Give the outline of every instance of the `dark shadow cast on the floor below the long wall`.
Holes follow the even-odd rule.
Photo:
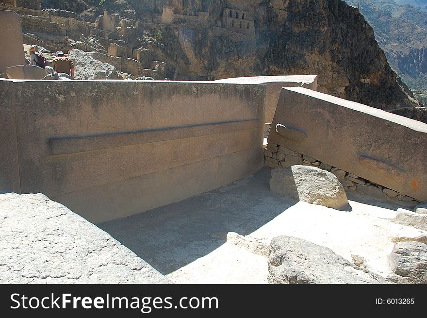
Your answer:
[[[166,275],[220,247],[228,232],[250,234],[294,205],[270,192],[270,171],[263,168],[199,196],[97,225]]]

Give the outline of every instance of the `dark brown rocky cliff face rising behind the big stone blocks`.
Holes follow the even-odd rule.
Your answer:
[[[427,121],[427,113],[419,109],[411,91],[388,65],[371,26],[358,9],[344,1],[125,0],[120,3],[123,8],[134,10],[135,19],[143,22],[128,37],[131,46],[142,45],[152,51],[154,60],[166,62],[169,78],[214,80],[315,74],[319,76],[321,92]],[[180,14],[169,24],[161,23],[165,5]],[[246,13],[240,28],[234,16],[228,22],[224,20],[227,9],[234,10],[233,14]],[[195,22],[200,13],[209,16],[209,23]],[[226,27],[225,23],[230,24]],[[231,23],[237,24],[230,27]]]

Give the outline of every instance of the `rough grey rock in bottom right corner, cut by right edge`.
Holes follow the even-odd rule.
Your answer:
[[[404,278],[399,283],[427,284],[427,245],[397,242],[389,255],[390,269]]]

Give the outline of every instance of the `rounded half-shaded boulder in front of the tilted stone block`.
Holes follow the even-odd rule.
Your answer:
[[[330,208],[348,207],[343,185],[318,167],[292,166],[271,170],[270,190],[283,196]]]

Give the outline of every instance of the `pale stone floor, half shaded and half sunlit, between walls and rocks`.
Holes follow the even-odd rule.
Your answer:
[[[289,201],[269,190],[270,169],[199,196],[98,226],[178,284],[267,283],[268,245],[291,235],[327,246],[386,277],[399,240],[427,232],[393,222],[402,206],[351,197],[351,211]]]

